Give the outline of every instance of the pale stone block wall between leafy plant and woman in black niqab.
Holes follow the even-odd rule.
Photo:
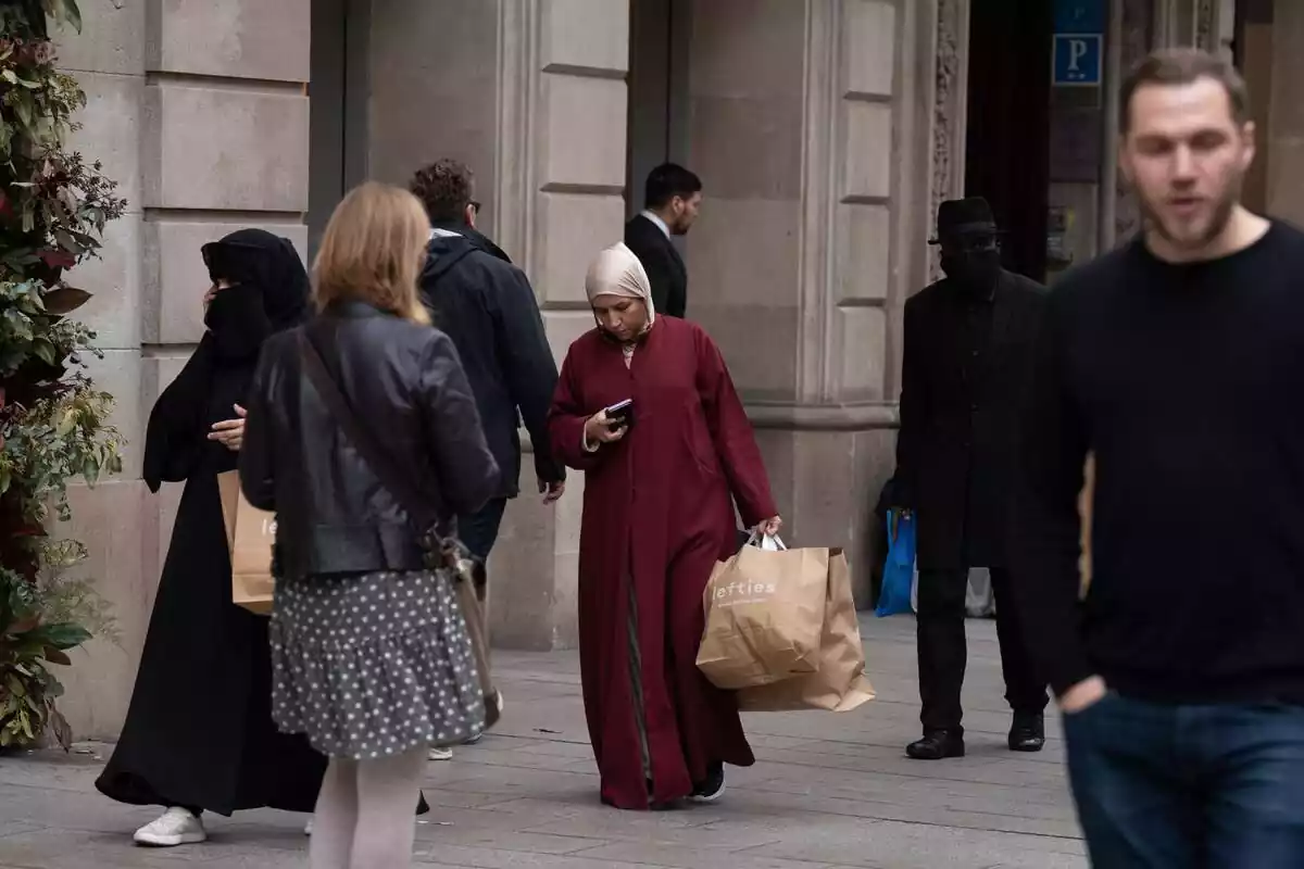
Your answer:
[[[77,492],[89,573],[115,605],[121,648],[96,644],[70,671],[83,736],[121,726],[180,486],[140,482],[145,420],[203,332],[200,246],[257,225],[306,240],[310,0],[121,0],[82,4],[85,35],[63,63],[90,98],[80,147],[104,156],[129,215],[103,263],[73,280],[98,293],[99,383],[129,439],[123,476]]]

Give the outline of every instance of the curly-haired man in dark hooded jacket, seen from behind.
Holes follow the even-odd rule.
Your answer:
[[[566,491],[566,468],[553,460],[546,422],[557,362],[526,274],[476,229],[481,206],[471,169],[456,160],[438,160],[420,169],[408,188],[434,227],[421,298],[436,327],[458,348],[485,439],[502,469],[497,496],[479,513],[458,519],[462,542],[486,562],[507,500],[520,494],[522,422],[533,444],[544,502],[556,503]]]

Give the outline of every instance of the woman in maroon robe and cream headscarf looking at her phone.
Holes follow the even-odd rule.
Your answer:
[[[724,793],[755,762],[732,693],[698,671],[702,595],[747,526],[781,525],[751,423],[698,326],[657,319],[623,244],[585,279],[597,328],[566,356],[553,448],[585,472],[580,675],[602,800],[622,809]],[[619,412],[613,405],[630,401]]]

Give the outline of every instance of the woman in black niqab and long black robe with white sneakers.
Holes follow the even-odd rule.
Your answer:
[[[231,560],[218,474],[235,470],[244,403],[267,336],[305,319],[308,274],[293,245],[241,229],[205,245],[213,278],[207,331],[159,396],[145,443],[145,481],[185,482],[121,739],[95,786],[163,817],[136,840],[202,842],[200,813],[270,806],[313,810],[326,760],[271,719],[267,620],[231,602]],[[200,304],[200,300],[196,300]]]

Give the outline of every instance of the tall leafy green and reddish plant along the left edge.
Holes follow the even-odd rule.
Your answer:
[[[52,542],[47,524],[51,509],[70,519],[72,481],[121,469],[112,396],[86,374],[95,332],[69,318],[90,293],[64,272],[98,255],[126,203],[65,147],[86,95],[55,66],[47,16],[81,30],[74,0],[0,5],[0,748],[47,730],[67,748],[50,664],[112,632],[94,588],[69,578],[85,547]]]

